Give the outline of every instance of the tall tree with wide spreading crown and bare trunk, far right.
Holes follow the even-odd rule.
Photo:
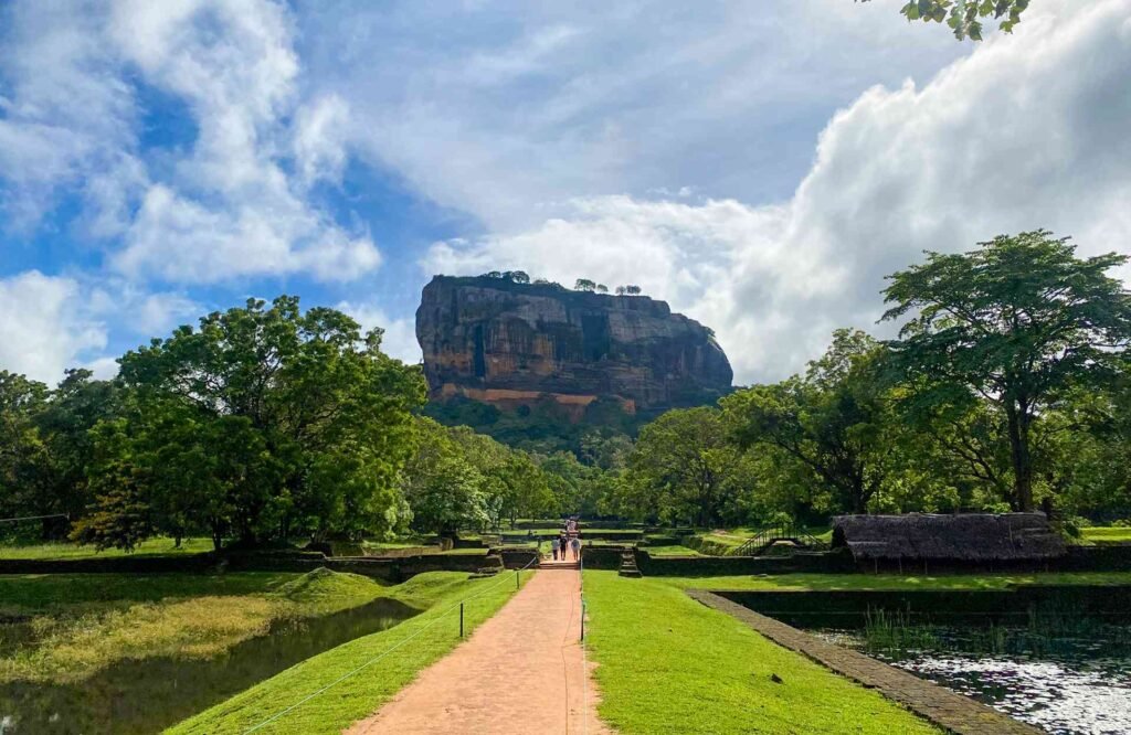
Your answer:
[[[890,276],[884,320],[909,317],[889,343],[920,387],[916,401],[981,398],[1005,416],[1013,507],[1034,509],[1031,435],[1043,408],[1073,386],[1111,380],[1131,340],[1131,294],[1110,253],[1079,259],[1047,231],[1001,235],[960,254],[927,253]]]

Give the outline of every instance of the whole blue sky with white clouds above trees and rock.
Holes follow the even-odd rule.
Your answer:
[[[415,361],[432,274],[521,268],[638,283],[750,382],[924,249],[1131,250],[1131,0],[982,44],[900,5],[0,2],[0,368],[284,292]]]

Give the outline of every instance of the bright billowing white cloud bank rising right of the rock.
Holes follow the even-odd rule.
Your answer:
[[[1129,69],[1131,0],[1048,2],[922,87],[861,95],[784,205],[571,200],[424,266],[639,283],[714,327],[736,380],[780,378],[834,328],[875,330],[883,276],[924,249],[1047,227],[1082,254],[1131,252]]]

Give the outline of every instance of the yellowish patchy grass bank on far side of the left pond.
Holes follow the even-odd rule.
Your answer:
[[[62,577],[0,578],[3,612],[31,614],[35,640],[0,657],[0,682],[74,682],[123,659],[211,658],[265,634],[277,620],[329,615],[378,597],[414,595],[414,588],[389,588],[326,569],[204,579]]]

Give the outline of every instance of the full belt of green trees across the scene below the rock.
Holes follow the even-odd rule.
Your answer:
[[[1128,522],[1131,294],[1111,275],[1126,262],[1079,258],[1046,231],[927,253],[883,291],[895,339],[841,329],[784,381],[659,416],[597,401],[578,424],[549,405],[425,406],[420,366],[381,352],[380,329],[251,300],[128,352],[113,380],[72,370],[51,388],[0,371],[0,518],[50,517],[2,528],[130,548],[454,535],[575,512]]]

